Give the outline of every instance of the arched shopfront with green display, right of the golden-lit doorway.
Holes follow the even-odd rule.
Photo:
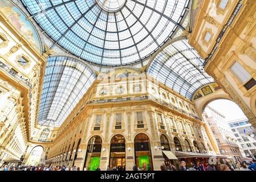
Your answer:
[[[153,169],[150,140],[145,134],[137,134],[134,139],[135,164],[141,170]]]

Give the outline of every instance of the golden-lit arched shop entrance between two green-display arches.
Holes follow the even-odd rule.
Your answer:
[[[123,135],[115,135],[111,139],[109,168],[115,167],[118,171],[125,170],[125,138]]]

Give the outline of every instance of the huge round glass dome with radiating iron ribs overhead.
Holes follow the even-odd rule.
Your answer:
[[[82,59],[127,65],[151,55],[180,26],[188,0],[22,0],[36,22]]]

